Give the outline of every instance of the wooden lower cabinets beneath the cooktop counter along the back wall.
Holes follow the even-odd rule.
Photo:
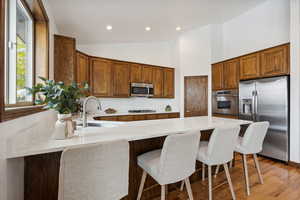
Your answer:
[[[103,116],[94,117],[95,120],[105,121],[141,121],[141,120],[154,120],[154,119],[170,119],[179,118],[180,113],[158,113],[158,114],[142,114],[142,115],[120,115],[120,116]]]

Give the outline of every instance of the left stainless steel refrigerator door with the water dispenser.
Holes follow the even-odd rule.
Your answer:
[[[239,85],[239,118],[244,120],[255,120],[254,108],[256,91],[256,82],[243,81]]]

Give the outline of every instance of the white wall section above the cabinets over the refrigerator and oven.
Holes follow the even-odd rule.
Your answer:
[[[213,62],[289,42],[288,0],[268,0],[222,25],[222,56]]]

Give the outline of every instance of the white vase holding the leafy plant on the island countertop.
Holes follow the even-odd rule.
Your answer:
[[[55,140],[64,140],[68,135],[68,128],[65,119],[72,117],[72,114],[58,114],[55,123],[52,138]]]

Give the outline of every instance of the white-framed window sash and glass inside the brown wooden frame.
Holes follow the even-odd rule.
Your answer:
[[[26,87],[33,86],[33,25],[31,13],[21,0],[8,1],[5,104],[33,104]]]

